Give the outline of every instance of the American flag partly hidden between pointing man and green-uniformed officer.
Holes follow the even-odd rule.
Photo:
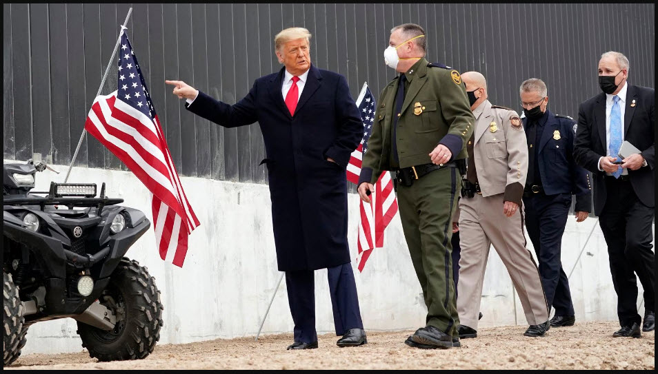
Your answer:
[[[357,107],[363,121],[363,139],[361,144],[352,152],[350,163],[347,167],[347,178],[352,183],[359,183],[361,174],[361,160],[363,154],[368,152],[368,138],[372,133],[372,124],[375,122],[375,110],[377,104],[370,93],[368,83],[363,83],[361,94],[357,98]],[[370,195],[370,204],[361,201],[359,212],[359,230],[357,238],[357,263],[359,271],[363,271],[372,249],[383,247],[383,231],[397,213],[397,200],[393,191],[393,183],[390,173],[383,172],[375,183],[375,193]]]

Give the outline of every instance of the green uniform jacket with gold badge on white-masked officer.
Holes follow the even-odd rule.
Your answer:
[[[392,165],[395,158],[391,154],[392,118],[397,116],[396,77],[379,96],[359,184],[375,183],[386,170],[431,163],[429,154],[439,144],[450,149],[450,160],[466,158],[466,142],[473,132],[475,117],[459,72],[431,65],[423,58],[405,76],[408,87],[395,139],[399,165]]]

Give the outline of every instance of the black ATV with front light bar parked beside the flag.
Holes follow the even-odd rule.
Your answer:
[[[148,356],[160,339],[160,291],[146,267],[123,257],[150,227],[107,198],[105,183],[30,190],[46,164],[3,164],[3,363],[21,355],[31,324],[77,320],[99,361]]]

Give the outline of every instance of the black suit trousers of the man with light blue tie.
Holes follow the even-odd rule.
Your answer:
[[[608,243],[612,284],[618,298],[619,324],[641,324],[636,305],[636,273],[644,287],[645,308],[656,310],[655,255],[651,251],[651,224],[655,211],[639,201],[630,181],[606,176],[605,182],[607,198],[599,224]]]

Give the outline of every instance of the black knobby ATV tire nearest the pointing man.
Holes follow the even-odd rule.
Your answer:
[[[137,360],[148,356],[158,340],[162,326],[160,291],[146,267],[123,258],[108,289],[99,298],[117,316],[112,331],[104,331],[78,322],[82,346],[99,361]]]

